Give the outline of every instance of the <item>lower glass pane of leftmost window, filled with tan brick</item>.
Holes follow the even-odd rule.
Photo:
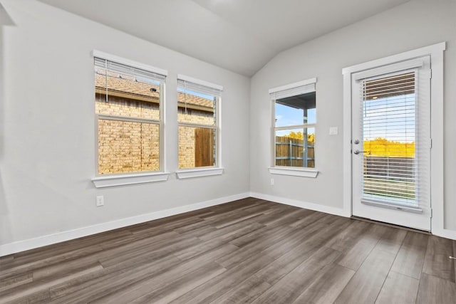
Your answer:
[[[98,120],[98,174],[160,169],[160,126]]]

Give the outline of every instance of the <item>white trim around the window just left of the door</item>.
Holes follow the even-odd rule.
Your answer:
[[[301,80],[296,83],[289,83],[288,85],[281,85],[276,88],[271,88],[269,89],[269,95],[280,92],[283,90],[290,90],[294,88],[299,88],[304,85],[311,85],[314,84],[316,85],[316,78],[310,78],[307,80]],[[312,90],[314,92],[314,90]],[[277,128],[282,128],[282,129],[289,129],[290,127],[296,127],[296,126],[286,126],[286,127],[276,127],[276,122],[275,122],[275,100],[272,100],[272,141],[271,141],[271,151],[272,151],[272,167],[269,167],[269,173],[271,174],[279,174],[279,175],[289,175],[292,177],[311,177],[311,178],[316,178],[318,176],[318,169],[316,168],[308,168],[308,167],[282,167],[282,166],[276,166],[276,130]],[[314,127],[316,129],[316,123],[313,124],[305,124],[305,125],[299,125],[299,127],[304,126],[306,128],[309,127]]]

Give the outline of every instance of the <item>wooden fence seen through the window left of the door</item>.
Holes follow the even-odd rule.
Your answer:
[[[304,140],[276,136],[276,166],[314,168],[314,157],[314,142],[308,141],[305,151]]]

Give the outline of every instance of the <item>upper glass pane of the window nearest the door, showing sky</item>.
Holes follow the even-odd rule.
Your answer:
[[[316,123],[315,92],[276,100],[275,126],[286,127]]]

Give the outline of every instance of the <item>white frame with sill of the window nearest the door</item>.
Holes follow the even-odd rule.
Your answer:
[[[276,98],[273,98],[273,95],[275,93],[281,93],[281,92],[288,92],[290,96],[294,95],[301,95],[302,88],[306,86],[311,86],[314,85],[314,89],[309,90],[307,93],[311,92],[316,92],[316,78],[310,78],[307,80],[302,80],[298,81],[296,83],[290,83],[288,85],[281,85],[276,88],[271,88],[269,89],[269,95],[271,96],[271,108],[272,108],[272,115],[271,115],[271,164],[272,166],[269,167],[269,173],[271,174],[279,174],[279,175],[291,175],[294,177],[311,177],[311,178],[316,178],[318,175],[318,169],[316,169],[316,166],[314,168],[309,168],[309,167],[285,167],[285,166],[276,166],[276,130],[289,130],[293,128],[309,128],[313,127],[316,133],[316,122],[315,123],[306,123],[302,125],[291,125],[291,126],[285,126],[285,127],[276,127],[276,113],[275,113],[275,105],[276,105]],[[314,147],[314,154],[316,152],[316,149]],[[314,160],[315,164],[316,161]]]

